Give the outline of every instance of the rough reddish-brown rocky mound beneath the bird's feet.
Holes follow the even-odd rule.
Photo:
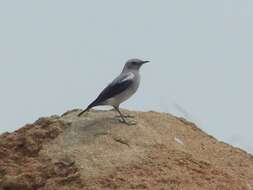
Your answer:
[[[0,190],[253,189],[252,155],[182,118],[79,111],[0,135]]]

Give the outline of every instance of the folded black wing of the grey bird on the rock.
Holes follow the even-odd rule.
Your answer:
[[[104,101],[108,100],[109,98],[112,98],[123,91],[125,91],[127,88],[129,88],[133,83],[133,77],[134,75],[127,74],[123,76],[117,77],[111,84],[109,84],[94,100],[88,108],[92,108],[94,106],[100,105]]]

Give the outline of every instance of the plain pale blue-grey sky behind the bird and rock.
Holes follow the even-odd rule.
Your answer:
[[[124,108],[183,115],[253,152],[253,1],[0,1],[0,132],[84,108],[133,57]]]

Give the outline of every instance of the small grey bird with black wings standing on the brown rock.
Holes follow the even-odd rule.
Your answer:
[[[130,125],[121,113],[119,106],[122,102],[128,100],[138,90],[140,85],[140,68],[149,61],[141,59],[129,59],[120,73],[109,85],[107,85],[98,97],[91,102],[88,107],[78,114],[80,117],[95,106],[112,106],[122,119],[122,122]]]

